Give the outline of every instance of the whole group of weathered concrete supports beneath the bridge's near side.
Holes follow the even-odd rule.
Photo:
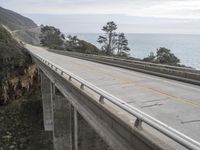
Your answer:
[[[41,71],[40,76],[44,129],[53,132],[54,150],[106,150],[107,144],[55,84]]]

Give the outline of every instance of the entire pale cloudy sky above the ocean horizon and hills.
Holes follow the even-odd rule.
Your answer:
[[[0,0],[0,6],[67,33],[200,34],[200,0]]]

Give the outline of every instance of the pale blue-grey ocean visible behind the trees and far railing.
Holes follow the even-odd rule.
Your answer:
[[[100,34],[74,33],[79,39],[86,40],[101,47],[97,43]],[[130,54],[136,58],[144,58],[149,53],[156,52],[160,47],[171,50],[181,61],[180,64],[200,70],[200,35],[180,34],[125,34],[131,49]]]

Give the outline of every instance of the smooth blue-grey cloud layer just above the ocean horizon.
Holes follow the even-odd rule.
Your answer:
[[[125,33],[200,34],[198,19],[169,19],[126,15],[29,15],[38,24],[53,25],[64,33],[99,33],[107,21]]]

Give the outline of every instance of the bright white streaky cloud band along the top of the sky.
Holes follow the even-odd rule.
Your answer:
[[[124,14],[200,18],[199,0],[1,0],[0,5],[22,14]]]

